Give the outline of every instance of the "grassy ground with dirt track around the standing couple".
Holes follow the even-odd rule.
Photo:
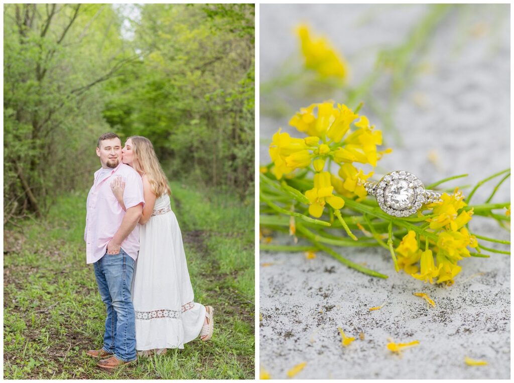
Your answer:
[[[195,301],[214,307],[214,335],[114,372],[85,355],[102,345],[105,306],[86,265],[87,192],[47,220],[4,229],[5,379],[253,379],[253,201],[172,183]]]

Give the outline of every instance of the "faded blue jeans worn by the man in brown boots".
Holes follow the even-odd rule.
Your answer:
[[[136,360],[136,315],[131,285],[135,261],[120,249],[94,263],[102,302],[107,307],[102,349],[125,362]]]

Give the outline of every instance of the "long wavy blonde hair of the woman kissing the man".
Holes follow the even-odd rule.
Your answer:
[[[134,169],[139,173],[146,174],[152,191],[157,197],[164,193],[171,194],[168,178],[162,171],[152,142],[142,136],[128,137],[127,140],[129,138],[132,140],[132,150],[134,151]]]

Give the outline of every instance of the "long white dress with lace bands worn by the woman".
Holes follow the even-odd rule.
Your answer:
[[[206,311],[194,302],[182,235],[168,194],[157,198],[150,220],[139,227],[139,242],[132,290],[136,350],[183,349],[200,334]]]

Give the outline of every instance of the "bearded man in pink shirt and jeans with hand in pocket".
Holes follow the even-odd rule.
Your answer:
[[[103,359],[98,367],[114,369],[136,360],[131,285],[139,251],[137,223],[144,206],[143,183],[134,169],[121,162],[121,140],[116,134],[102,135],[96,152],[102,167],[95,172],[95,181],[87,196],[84,240],[87,263],[94,264],[107,319],[102,348],[89,350],[87,355]],[[126,212],[111,191],[111,180],[115,176],[125,181]]]

